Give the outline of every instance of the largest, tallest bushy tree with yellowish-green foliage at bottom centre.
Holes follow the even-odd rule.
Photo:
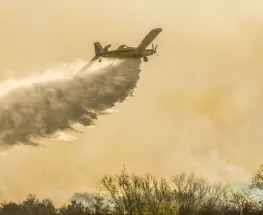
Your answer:
[[[124,169],[116,176],[105,175],[101,183],[115,214],[176,214],[171,189],[164,179],[158,181],[151,175],[129,175]]]

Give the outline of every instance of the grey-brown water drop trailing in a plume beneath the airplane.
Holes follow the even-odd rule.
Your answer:
[[[74,129],[76,124],[92,125],[99,114],[132,95],[140,60],[104,60],[83,67],[84,63],[79,60],[40,76],[3,83],[2,142],[38,144],[39,137]]]

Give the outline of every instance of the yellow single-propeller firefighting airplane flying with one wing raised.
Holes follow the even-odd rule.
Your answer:
[[[141,41],[138,47],[128,47],[125,44],[119,46],[116,50],[109,51],[111,45],[107,45],[104,48],[99,42],[94,43],[95,57],[91,61],[99,59],[101,62],[102,58],[143,58],[144,62],[148,61],[148,57],[153,54],[157,54],[156,49],[158,45],[152,44],[152,49],[146,49],[147,46],[157,37],[162,31],[161,28],[151,30],[146,37]]]

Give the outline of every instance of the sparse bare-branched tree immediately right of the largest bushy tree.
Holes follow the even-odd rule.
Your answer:
[[[194,174],[181,173],[173,178],[173,195],[180,215],[216,214],[224,205],[227,186],[209,184]]]

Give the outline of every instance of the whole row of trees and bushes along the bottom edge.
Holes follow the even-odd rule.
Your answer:
[[[194,174],[176,175],[169,184],[152,175],[105,175],[96,194],[77,193],[56,208],[51,200],[29,195],[20,203],[4,202],[1,215],[263,215],[263,165],[253,175],[248,189],[234,190],[209,183]]]

